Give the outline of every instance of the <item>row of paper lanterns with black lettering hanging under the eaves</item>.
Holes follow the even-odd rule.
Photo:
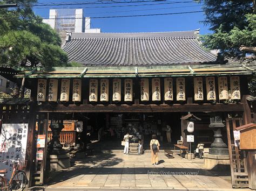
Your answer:
[[[161,101],[161,83],[160,78],[153,78],[152,80],[152,101]],[[206,93],[207,100],[216,100],[216,85],[215,77],[205,77],[206,80]],[[202,101],[204,100],[204,87],[203,87],[203,77],[194,77],[194,100]],[[219,100],[227,100],[231,98],[232,100],[240,100],[240,79],[239,76],[230,77],[230,88],[231,94],[228,93],[227,77],[218,77],[218,92]],[[98,97],[98,85],[100,86],[100,94]],[[185,90],[185,77],[176,78],[176,100],[185,101],[186,100],[186,90]],[[82,80],[73,79],[73,90],[72,90],[72,101],[80,102],[82,97]],[[112,101],[121,101],[121,79],[113,79],[113,94]],[[70,94],[70,80],[62,79],[60,88],[60,101],[69,101]],[[58,80],[49,80],[49,91],[48,91],[48,101],[56,102],[58,95]],[[89,82],[89,101],[109,101],[109,79],[100,79],[98,84],[97,79],[90,79]],[[143,78],[140,80],[140,100],[149,101],[150,100],[150,88],[149,79]],[[173,101],[173,79],[172,77],[166,77],[164,79],[164,100]],[[46,101],[46,80],[38,79],[37,88],[37,101]],[[124,101],[133,101],[133,80],[124,80]]]

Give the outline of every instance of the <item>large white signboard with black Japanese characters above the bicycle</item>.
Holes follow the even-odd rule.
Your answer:
[[[11,178],[12,160],[25,160],[28,124],[3,124],[0,137],[0,169]],[[5,162],[3,162],[5,161]]]

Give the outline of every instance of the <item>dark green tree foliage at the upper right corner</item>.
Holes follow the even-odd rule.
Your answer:
[[[245,58],[250,53],[239,47],[256,46],[256,15],[253,0],[204,0],[204,24],[212,34],[201,37],[208,49],[219,49],[220,55]]]

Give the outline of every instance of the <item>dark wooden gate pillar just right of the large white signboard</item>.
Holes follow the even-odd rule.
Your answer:
[[[28,187],[32,185],[33,169],[35,167],[35,155],[36,155],[36,143],[35,143],[35,131],[36,131],[36,114],[35,104],[30,105],[30,115],[28,124],[28,142],[26,144],[26,159],[28,163],[26,165],[26,176],[28,178]]]

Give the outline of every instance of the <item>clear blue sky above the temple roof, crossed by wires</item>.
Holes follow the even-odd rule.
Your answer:
[[[118,0],[119,2],[121,0]],[[126,0],[130,1],[130,0]],[[132,0],[134,1],[134,0]],[[138,0],[142,1],[142,0]],[[149,0],[144,0],[149,1]],[[86,5],[62,5],[55,4],[65,3],[93,3]],[[83,8],[86,17],[104,17],[104,16],[127,16],[127,15],[150,15],[161,13],[191,12],[201,11],[201,4],[188,2],[188,0],[166,0],[165,2],[140,2],[140,3],[118,3],[104,4],[111,1],[97,2],[97,0],[39,0],[39,5],[51,4],[48,6],[34,6],[33,10],[36,15],[43,18],[49,18],[49,10],[61,8]],[[125,1],[122,1],[125,2]],[[178,3],[177,3],[178,2]],[[181,3],[186,2],[186,3]],[[153,4],[153,5],[149,5]],[[129,6],[127,6],[129,5]],[[139,6],[130,6],[139,5]],[[107,8],[92,8],[95,6],[106,6]],[[119,6],[119,7],[110,7]],[[125,18],[92,18],[92,27],[102,29],[102,32],[166,32],[166,31],[189,31],[200,28],[200,34],[210,33],[208,26],[200,23],[204,20],[204,13],[187,13],[181,15],[164,15],[164,16],[146,16],[146,17],[125,17]]]

